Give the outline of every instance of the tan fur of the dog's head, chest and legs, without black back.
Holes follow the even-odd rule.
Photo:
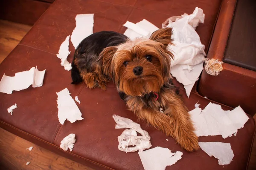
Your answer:
[[[150,39],[137,38],[119,46],[107,47],[99,55],[103,68],[97,67],[90,74],[81,72],[81,76],[89,88],[100,86],[102,89],[111,78],[118,91],[127,95],[125,101],[128,108],[139,118],[175,138],[187,151],[198,150],[198,138],[188,109],[169,84],[173,55],[167,46],[172,44],[171,35],[171,28],[159,29]],[[152,56],[151,61],[146,59],[148,55]],[[136,66],[143,67],[139,76],[133,72]],[[159,93],[157,101],[143,98],[151,92]],[[164,113],[159,111],[160,107],[164,108]]]

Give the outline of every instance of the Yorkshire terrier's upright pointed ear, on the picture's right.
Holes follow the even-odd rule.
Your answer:
[[[149,39],[162,43],[163,48],[166,49],[168,44],[172,44],[171,36],[172,28],[166,27],[153,32]]]

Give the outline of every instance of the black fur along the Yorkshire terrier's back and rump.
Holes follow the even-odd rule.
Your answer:
[[[109,46],[118,46],[125,43],[128,37],[118,32],[102,31],[96,32],[81,41],[75,51],[72,62],[71,77],[73,82],[71,84],[78,84],[82,80],[79,70],[86,72],[93,72],[95,61],[97,61],[102,50]],[[76,60],[76,64],[75,64]]]

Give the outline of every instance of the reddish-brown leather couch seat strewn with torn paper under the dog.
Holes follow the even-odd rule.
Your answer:
[[[75,28],[76,14],[95,14],[93,32],[112,30],[123,33],[125,27],[122,24],[127,20],[136,23],[145,18],[161,27],[161,23],[167,18],[184,12],[190,14],[198,6],[204,10],[206,17],[205,23],[200,24],[196,31],[201,37],[201,42],[205,44],[207,52],[209,46],[211,50],[213,50],[212,46],[224,48],[225,45],[215,38],[226,37],[228,33],[218,31],[218,27],[215,30],[215,23],[217,22],[218,26],[219,20],[223,18],[231,20],[232,18],[228,16],[234,11],[235,4],[235,0],[56,0],[0,65],[0,76],[4,73],[13,76],[15,72],[28,70],[33,66],[38,66],[39,70],[46,69],[43,86],[29,87],[10,95],[0,93],[0,127],[97,170],[143,170],[137,152],[124,153],[117,149],[117,136],[123,130],[114,129],[115,122],[112,115],[131,118],[133,121],[137,121],[137,117],[126,109],[114,84],[108,84],[106,91],[90,90],[84,83],[72,85],[70,72],[64,70],[56,57],[60,44]],[[72,61],[74,49],[70,48],[70,50],[68,60]],[[212,53],[211,50],[209,54]],[[180,87],[189,110],[194,109],[198,101],[202,108],[211,101],[198,94],[196,90],[198,85],[194,86],[188,99],[183,85],[177,81],[175,84]],[[61,125],[57,117],[56,92],[66,87],[73,98],[79,97],[81,104],[78,107],[84,120],[73,124],[66,121]],[[201,86],[202,89],[204,87]],[[13,115],[10,115],[7,108],[14,103],[17,103],[18,108],[14,110]],[[233,109],[224,104],[221,106],[226,110]],[[186,152],[171,137],[166,137],[143,121],[139,123],[151,136],[153,147],[167,147],[172,151],[183,152],[182,159],[166,170],[244,170],[247,168],[255,134],[255,122],[251,115],[248,116],[250,119],[236,136],[226,139],[220,135],[199,138],[199,141],[220,141],[231,144],[235,157],[229,165],[224,166],[218,165],[216,158],[209,157],[202,150]],[[76,144],[72,152],[63,151],[59,147],[60,141],[70,133],[76,134]],[[166,141],[166,138],[169,141]]]

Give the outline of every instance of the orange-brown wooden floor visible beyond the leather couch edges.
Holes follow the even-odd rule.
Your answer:
[[[31,26],[0,20],[0,63]],[[0,65],[1,66],[1,65]],[[253,117],[256,120],[256,115]],[[33,150],[26,148],[33,146]],[[30,161],[29,165],[26,162]],[[0,170],[92,170],[0,128]],[[256,170],[256,140],[248,170]]]

